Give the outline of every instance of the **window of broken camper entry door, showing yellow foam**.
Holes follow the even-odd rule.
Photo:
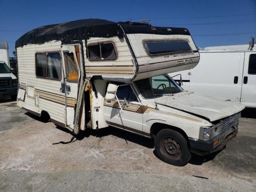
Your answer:
[[[72,52],[64,51],[64,61],[66,67],[67,79],[70,81],[78,80],[78,68],[76,65],[76,60]]]

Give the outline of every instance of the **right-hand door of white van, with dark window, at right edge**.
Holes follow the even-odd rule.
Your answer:
[[[241,103],[256,107],[256,53],[245,52]]]

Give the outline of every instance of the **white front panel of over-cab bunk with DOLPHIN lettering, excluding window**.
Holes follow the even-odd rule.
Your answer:
[[[134,80],[194,68],[199,53],[189,35],[128,34],[132,50],[138,61],[138,74]],[[150,56],[144,48],[145,41],[187,41],[191,52]]]

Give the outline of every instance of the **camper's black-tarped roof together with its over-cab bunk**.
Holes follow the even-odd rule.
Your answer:
[[[16,41],[18,50],[46,42],[83,43],[86,77],[123,82],[193,68],[199,53],[185,28],[86,19],[36,28]],[[50,50],[49,50],[50,51]]]

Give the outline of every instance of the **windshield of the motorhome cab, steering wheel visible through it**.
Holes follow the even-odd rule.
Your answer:
[[[135,84],[144,98],[163,96],[183,91],[167,74],[138,80],[135,81]]]

